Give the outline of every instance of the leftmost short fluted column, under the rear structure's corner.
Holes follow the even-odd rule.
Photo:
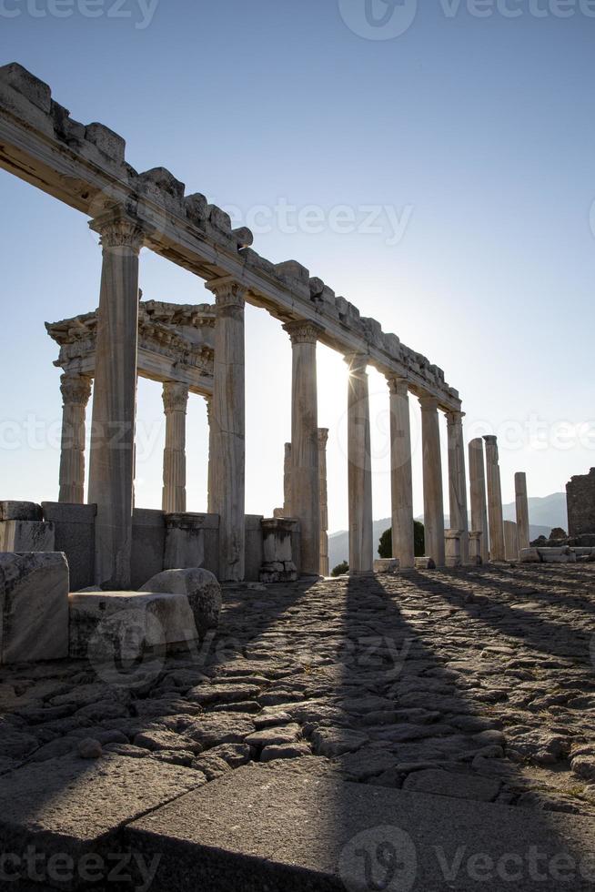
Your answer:
[[[67,371],[60,382],[63,408],[58,501],[82,505],[85,502],[85,413],[91,396],[91,379]]]

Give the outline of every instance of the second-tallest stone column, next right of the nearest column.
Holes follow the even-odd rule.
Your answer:
[[[215,361],[209,475],[209,511],[219,515],[219,578],[240,582],[245,573],[246,289],[233,279],[207,283],[215,294]]]

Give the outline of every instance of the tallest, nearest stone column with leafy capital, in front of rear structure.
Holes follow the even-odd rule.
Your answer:
[[[143,235],[120,209],[92,220],[103,248],[97,314],[89,503],[97,506],[95,581],[104,588],[130,587],[138,254]]]

